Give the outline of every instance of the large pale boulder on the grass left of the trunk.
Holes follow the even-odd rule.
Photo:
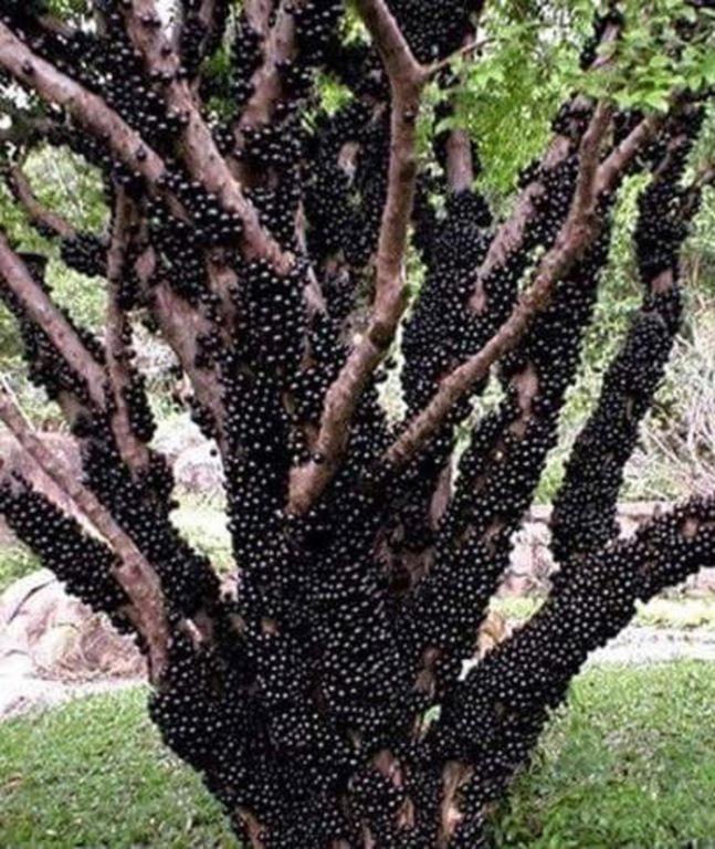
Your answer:
[[[132,638],[69,596],[48,569],[17,581],[0,597],[0,675],[90,681],[145,671]]]

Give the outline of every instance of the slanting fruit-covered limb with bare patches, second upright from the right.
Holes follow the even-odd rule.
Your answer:
[[[603,241],[559,281],[548,311],[502,364],[504,399],[471,436],[434,543],[438,556],[404,605],[401,630],[419,663],[417,685],[435,701],[456,682],[463,659],[474,653],[490,599],[508,565],[513,535],[557,443],[558,416],[578,370],[607,258]],[[544,339],[549,340],[548,355],[539,345]]]

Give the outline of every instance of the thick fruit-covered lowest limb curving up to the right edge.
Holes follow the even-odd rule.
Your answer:
[[[502,795],[528,759],[548,709],[562,701],[588,654],[629,622],[635,601],[714,564],[715,497],[691,501],[585,559],[477,664],[431,732],[430,743],[446,753],[444,846]]]

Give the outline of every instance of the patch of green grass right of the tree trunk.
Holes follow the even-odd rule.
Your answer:
[[[715,847],[715,664],[595,668],[495,821],[508,849]]]

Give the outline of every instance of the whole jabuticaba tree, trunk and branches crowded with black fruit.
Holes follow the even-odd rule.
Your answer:
[[[104,280],[107,303],[99,335],[80,326],[46,258],[0,233],[0,298],[28,377],[82,462],[78,478],[64,468],[3,384],[0,418],[38,473],[0,467],[0,513],[69,591],[135,635],[153,720],[253,849],[484,846],[487,807],[589,651],[639,599],[715,565],[715,497],[630,539],[614,524],[713,178],[690,165],[707,93],[683,85],[648,113],[574,92],[500,216],[475,188],[474,139],[450,120],[451,59],[479,61],[485,6],[182,0],[167,21],[155,0],[64,17],[44,0],[0,3],[8,197],[55,260]],[[690,11],[676,29],[702,40],[712,20]],[[346,38],[346,15],[361,36]],[[616,6],[598,18],[585,81],[627,25]],[[333,109],[326,77],[345,93]],[[446,120],[423,149],[428,86]],[[40,200],[25,163],[48,146],[102,176],[106,232]],[[631,175],[645,186],[643,304],[556,497],[560,569],[539,612],[479,660]],[[230,585],[172,524],[139,323],[172,349],[175,400],[223,463]],[[491,384],[500,400],[475,417]],[[36,488],[43,476],[54,488]]]

